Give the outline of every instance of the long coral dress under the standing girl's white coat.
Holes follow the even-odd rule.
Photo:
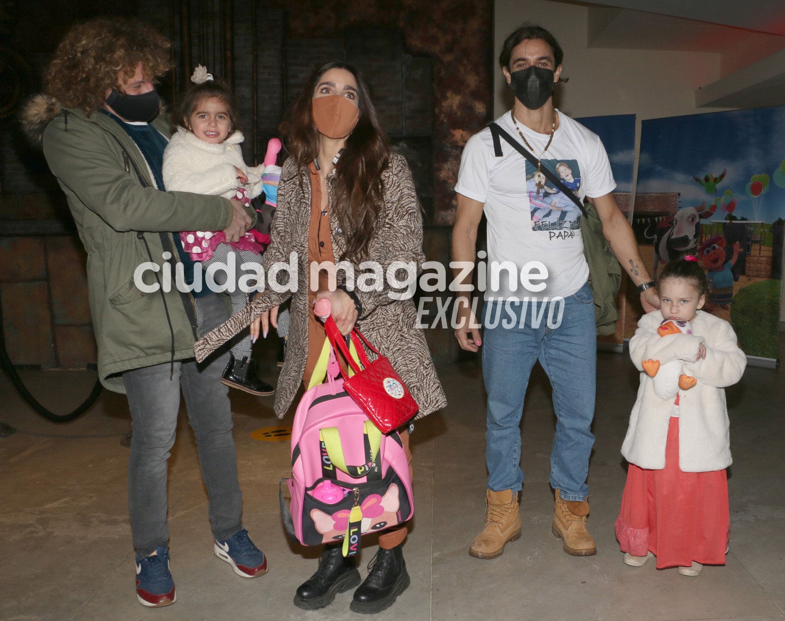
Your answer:
[[[677,411],[678,397],[674,409]],[[725,565],[730,535],[727,470],[679,468],[679,417],[671,416],[663,470],[630,463],[615,525],[623,552],[657,558],[657,568]]]

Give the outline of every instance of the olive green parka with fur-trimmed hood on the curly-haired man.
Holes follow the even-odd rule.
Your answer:
[[[152,125],[168,139],[163,116]],[[232,203],[220,196],[156,189],[136,144],[106,114],[85,114],[36,96],[25,108],[23,122],[31,138],[43,145],[87,251],[101,383],[124,393],[122,372],[193,358],[195,304],[174,286],[179,256],[172,234],[224,230],[232,222]],[[159,270],[170,263],[170,292],[137,289],[134,272],[145,262]],[[145,271],[144,282],[160,282],[163,273]]]

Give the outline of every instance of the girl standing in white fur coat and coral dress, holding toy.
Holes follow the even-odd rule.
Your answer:
[[[728,321],[700,311],[708,283],[696,257],[668,263],[658,288],[660,310],[644,315],[630,340],[641,387],[622,446],[630,467],[615,531],[627,565],[655,556],[657,568],[698,576],[703,565],[725,565],[731,452],[723,388],[739,381],[747,357]],[[692,334],[658,330],[669,321],[689,322]],[[671,361],[683,363],[681,381],[663,399],[655,377]]]

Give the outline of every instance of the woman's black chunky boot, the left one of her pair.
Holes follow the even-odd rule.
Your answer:
[[[355,557],[345,558],[343,543],[330,543],[319,557],[316,573],[298,586],[294,605],[303,610],[318,610],[331,604],[335,595],[360,584]]]

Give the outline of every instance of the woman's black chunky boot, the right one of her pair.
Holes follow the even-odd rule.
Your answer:
[[[349,608],[354,612],[372,615],[392,606],[396,597],[409,586],[409,574],[406,561],[403,560],[403,543],[392,550],[379,548],[368,568],[371,573],[354,592]]]

